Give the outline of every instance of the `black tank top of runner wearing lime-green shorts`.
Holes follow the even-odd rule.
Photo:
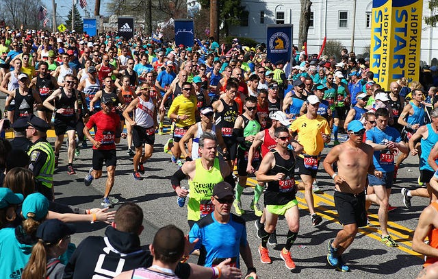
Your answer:
[[[265,192],[265,204],[282,205],[295,199],[295,158],[292,150],[289,152],[289,160],[283,159],[278,151],[271,149],[275,158],[275,165],[267,175],[276,175],[277,173],[284,173],[285,178],[280,181],[268,182],[268,188]]]

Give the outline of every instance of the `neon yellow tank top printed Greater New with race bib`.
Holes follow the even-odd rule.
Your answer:
[[[210,170],[204,169],[201,158],[195,160],[195,175],[193,180],[189,180],[188,220],[198,221],[213,212],[214,206],[211,204],[213,187],[224,181],[219,166],[218,158],[214,158],[214,165]]]

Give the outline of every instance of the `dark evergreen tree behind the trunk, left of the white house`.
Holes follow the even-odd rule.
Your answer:
[[[203,8],[210,8],[210,0],[200,0]],[[218,0],[219,26],[222,35],[228,36],[229,29],[233,25],[240,25],[240,20],[248,16],[248,11],[242,5],[240,0]]]

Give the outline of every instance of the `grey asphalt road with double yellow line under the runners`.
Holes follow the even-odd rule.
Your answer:
[[[152,158],[146,162],[144,180],[136,181],[131,175],[132,158],[126,154],[126,141],[117,147],[118,166],[116,168],[116,182],[112,190],[112,197],[123,202],[136,202],[144,210],[145,230],[140,235],[142,244],[151,243],[157,228],[167,224],[175,224],[183,231],[188,232],[187,208],[179,208],[177,196],[170,186],[170,177],[177,170],[177,166],[170,162],[170,155],[164,154],[163,146],[168,135],[155,136],[155,150]],[[53,141],[53,138],[50,139]],[[331,145],[329,145],[331,146]],[[58,167],[55,180],[55,199],[65,204],[73,204],[83,208],[100,207],[102,193],[105,186],[105,171],[103,178],[94,180],[91,186],[83,184],[83,178],[91,166],[91,148],[81,149],[81,155],[75,160],[76,175],[66,173],[66,149],[65,145],[60,155],[60,167]],[[327,153],[328,149],[324,150]],[[300,232],[296,243],[292,246],[292,258],[296,263],[296,269],[289,271],[285,268],[283,260],[279,256],[282,244],[269,247],[272,265],[264,265],[259,260],[257,247],[260,243],[255,234],[254,221],[256,219],[252,210],[249,210],[253,189],[247,188],[242,196],[242,204],[247,213],[244,215],[248,242],[253,252],[253,260],[260,278],[415,278],[422,268],[422,256],[411,250],[413,230],[417,226],[421,210],[428,201],[420,197],[413,197],[413,207],[408,210],[402,204],[400,187],[415,187],[419,171],[418,159],[409,156],[399,170],[399,179],[392,189],[390,197],[391,206],[398,209],[389,213],[389,233],[399,243],[400,247],[391,248],[385,246],[378,239],[378,219],[376,216],[377,206],[369,210],[370,226],[362,228],[357,238],[344,254],[344,260],[350,266],[351,272],[342,274],[335,271],[326,263],[327,243],[335,237],[341,228],[337,223],[337,212],[333,203],[333,180],[329,178],[322,164],[318,173],[319,185],[324,191],[315,194],[315,206],[317,212],[322,215],[323,222],[318,228],[311,226],[311,218],[305,205],[303,193],[298,193],[300,202]],[[254,182],[254,180],[249,180]],[[187,183],[187,182],[185,182]],[[262,197],[263,198],[263,197]],[[116,205],[116,208],[118,206]],[[105,224],[81,223],[79,231],[72,236],[72,242],[78,244],[81,239],[88,235],[103,235]],[[276,228],[279,243],[285,243],[287,224],[280,219]],[[227,241],[227,236],[224,236]],[[196,261],[192,256],[191,261]],[[243,263],[243,262],[242,262]],[[246,272],[246,267],[242,267]]]

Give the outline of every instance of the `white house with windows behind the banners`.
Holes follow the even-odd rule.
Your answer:
[[[311,27],[307,40],[308,53],[318,53],[324,40],[339,40],[349,51],[352,46],[353,22],[355,22],[354,51],[370,52],[372,1],[357,0],[356,15],[353,12],[355,0],[312,0]],[[423,16],[430,16],[428,0],[423,3]],[[235,36],[253,38],[266,43],[267,24],[292,24],[293,43],[298,44],[298,27],[301,4],[299,0],[242,0],[249,12],[248,20],[242,19],[240,26],[231,28]],[[355,19],[354,19],[355,18]],[[422,23],[421,60],[430,64],[438,58],[438,28]]]

